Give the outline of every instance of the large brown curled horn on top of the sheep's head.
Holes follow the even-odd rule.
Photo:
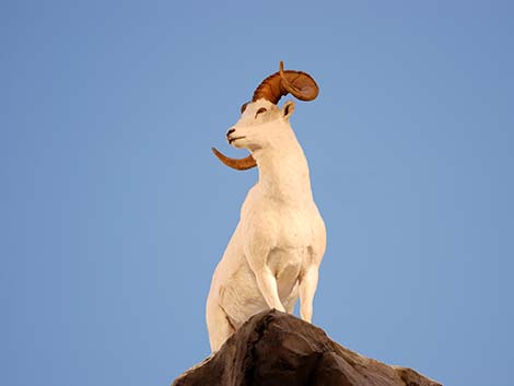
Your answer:
[[[314,79],[306,72],[283,69],[280,62],[280,71],[266,78],[254,92],[253,102],[265,98],[277,104],[283,95],[291,93],[300,101],[312,101],[319,92]]]

